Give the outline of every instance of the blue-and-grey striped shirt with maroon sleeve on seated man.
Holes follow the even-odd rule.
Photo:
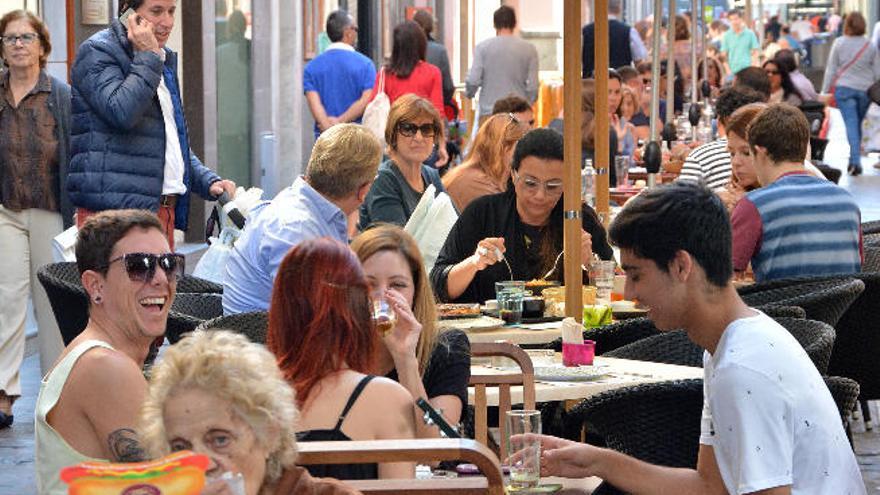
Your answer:
[[[786,174],[737,203],[733,267],[752,263],[755,280],[844,275],[861,270],[861,212],[837,185]]]

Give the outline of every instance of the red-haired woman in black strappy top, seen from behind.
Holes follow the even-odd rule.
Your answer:
[[[399,383],[370,375],[380,345],[363,269],[328,238],[293,248],[278,270],[267,346],[296,390],[297,439],[413,438],[413,399]],[[411,463],[308,466],[337,479],[411,478]]]

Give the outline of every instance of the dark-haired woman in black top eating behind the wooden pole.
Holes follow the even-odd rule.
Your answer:
[[[501,280],[562,280],[562,135],[550,129],[526,134],[513,152],[507,192],[472,202],[452,227],[431,283],[442,301],[482,302]],[[612,259],[596,212],[581,211],[581,263],[595,252]]]

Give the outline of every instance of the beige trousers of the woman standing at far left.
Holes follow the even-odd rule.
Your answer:
[[[20,212],[0,205],[0,391],[21,395],[19,368],[24,359],[28,296],[33,295],[43,373],[64,342],[37,268],[52,263],[52,239],[61,233],[61,215],[31,208]]]

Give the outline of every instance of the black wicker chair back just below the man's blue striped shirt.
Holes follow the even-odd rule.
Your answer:
[[[741,287],[740,296],[750,306],[800,306],[807,318],[832,327],[865,290],[853,278],[791,278],[771,280]]]

